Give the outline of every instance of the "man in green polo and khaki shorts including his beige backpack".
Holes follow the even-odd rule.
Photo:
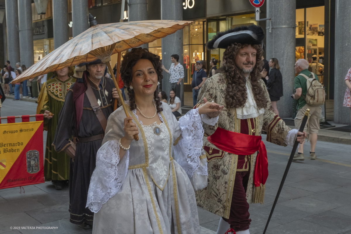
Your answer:
[[[310,133],[309,140],[311,141],[310,159],[316,159],[314,153],[317,143],[317,134],[320,129],[319,116],[322,112],[321,105],[325,102],[325,91],[323,86],[318,81],[318,77],[313,72],[308,70],[309,62],[305,59],[298,59],[295,63],[295,72],[298,74],[295,77],[294,88],[296,93],[292,94],[294,99],[298,100],[298,112],[295,117],[295,128],[299,128],[302,119],[305,115],[306,109],[310,109],[309,119],[307,121],[308,132]],[[305,126],[305,131],[307,129]],[[294,155],[293,161],[305,160],[304,156],[304,143],[303,142],[298,153]]]

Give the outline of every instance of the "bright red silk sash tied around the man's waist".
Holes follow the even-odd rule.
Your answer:
[[[259,151],[253,173],[255,187],[265,184],[268,177],[268,159],[266,146],[261,141],[261,136],[246,135],[217,128],[207,140],[217,148],[231,154],[251,155]]]

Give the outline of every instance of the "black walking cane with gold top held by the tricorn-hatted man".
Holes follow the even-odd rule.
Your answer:
[[[310,113],[310,109],[307,109],[306,112],[305,112],[304,118],[302,119],[302,123],[301,123],[300,129],[299,129],[299,132],[303,132],[304,131],[304,128],[305,128],[305,125],[306,125],[309,113]],[[290,168],[292,159],[294,158],[294,154],[296,152],[296,149],[297,149],[298,145],[299,145],[299,142],[297,140],[295,140],[294,147],[292,147],[290,158],[289,158],[289,161],[287,162],[287,165],[286,165],[286,168],[285,168],[285,172],[284,172],[284,175],[283,175],[283,179],[282,179],[282,182],[280,182],[278,193],[276,195],[276,199],[274,199],[273,207],[271,209],[271,213],[269,214],[269,217],[268,217],[268,220],[267,220],[267,223],[266,223],[266,227],[264,228],[263,234],[266,233],[266,230],[267,230],[268,225],[269,225],[269,221],[271,221],[272,214],[274,212],[274,208],[277,205],[277,201],[278,201],[280,192],[282,191],[282,188],[283,188],[283,185],[284,185],[287,173],[289,172],[289,168]]]

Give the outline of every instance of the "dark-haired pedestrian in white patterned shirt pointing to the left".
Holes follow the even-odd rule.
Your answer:
[[[171,55],[171,68],[167,70],[164,65],[162,65],[162,69],[164,69],[168,74],[171,75],[170,82],[171,82],[171,90],[173,89],[176,93],[177,97],[180,97],[180,82],[184,79],[184,68],[178,62],[179,55],[172,54]]]

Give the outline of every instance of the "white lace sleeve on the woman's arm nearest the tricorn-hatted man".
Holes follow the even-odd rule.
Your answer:
[[[191,178],[200,166],[204,129],[198,109],[192,109],[179,119],[181,136],[174,146],[174,159]],[[201,168],[203,169],[203,168]],[[207,171],[201,170],[201,171]]]

